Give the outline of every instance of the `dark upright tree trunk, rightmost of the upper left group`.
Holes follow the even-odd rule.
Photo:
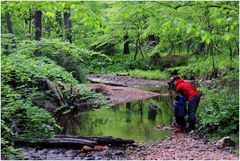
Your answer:
[[[65,39],[72,43],[72,22],[70,20],[70,9],[69,12],[64,12],[64,25],[65,25]]]

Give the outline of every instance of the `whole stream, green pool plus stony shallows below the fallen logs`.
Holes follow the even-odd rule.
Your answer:
[[[109,146],[103,151],[84,152],[81,149],[23,147],[30,160],[122,160],[132,151],[146,149],[146,144],[170,136],[170,130],[157,130],[157,125],[169,126],[172,122],[172,94],[167,88],[140,88],[166,94],[154,98],[102,107],[88,112],[72,111],[61,115],[57,123],[62,130],[57,134],[75,136],[113,136],[129,138],[132,145]]]

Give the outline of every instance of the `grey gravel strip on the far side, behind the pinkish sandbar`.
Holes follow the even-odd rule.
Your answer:
[[[131,76],[117,76],[110,74],[87,75],[87,78],[93,83],[104,83],[114,86],[125,87],[168,87],[168,80],[137,79]]]

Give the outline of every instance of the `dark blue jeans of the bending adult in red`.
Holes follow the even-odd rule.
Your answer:
[[[196,94],[188,101],[188,123],[189,128],[194,129],[196,123],[196,112],[200,102],[201,95]]]

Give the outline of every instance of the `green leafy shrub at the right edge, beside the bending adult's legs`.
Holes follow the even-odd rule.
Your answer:
[[[199,107],[200,124],[220,136],[239,132],[239,93],[228,88],[204,90]]]

